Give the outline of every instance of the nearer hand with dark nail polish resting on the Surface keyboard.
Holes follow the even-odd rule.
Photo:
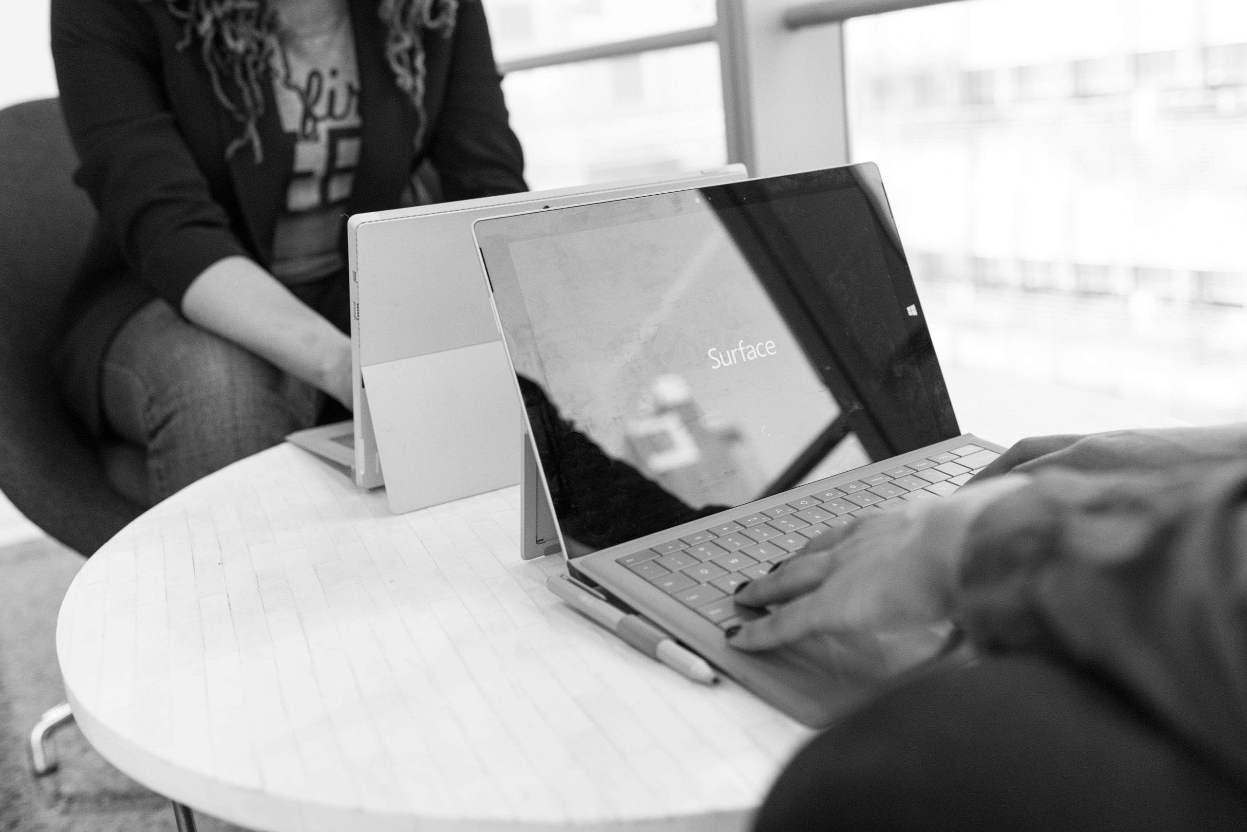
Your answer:
[[[933,628],[954,613],[970,524],[985,506],[1026,482],[1000,478],[824,533],[783,568],[742,587],[739,604],[772,612],[732,631],[728,644],[757,651],[912,633],[924,634],[919,640],[930,646]]]

